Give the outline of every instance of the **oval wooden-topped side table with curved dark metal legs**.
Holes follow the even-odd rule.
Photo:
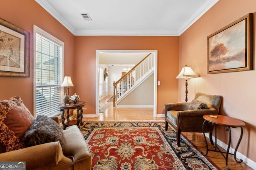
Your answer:
[[[241,128],[241,134],[240,134],[240,138],[238,140],[238,143],[236,144],[236,149],[234,151],[234,159],[236,160],[236,151],[238,149],[238,146],[241,142],[242,136],[243,136],[243,128],[245,126],[245,123],[239,119],[235,119],[232,117],[228,117],[228,116],[224,116],[224,115],[204,115],[203,118],[205,119],[204,123],[203,123],[203,133],[204,133],[204,125],[206,122],[208,122],[210,125],[214,125],[214,131],[215,131],[215,145],[214,145],[214,150],[211,151],[215,151],[215,152],[220,152],[222,154],[222,156],[225,158],[226,160],[226,168],[227,170],[230,170],[230,168],[228,167],[228,154],[232,154],[229,152],[230,149],[230,143],[231,143],[231,131],[230,131],[230,127],[232,128],[236,128],[236,127],[240,127]],[[225,126],[225,130],[228,131],[228,149],[226,152],[222,152],[220,151],[220,149],[217,147],[217,130],[216,130],[216,125],[224,125]],[[207,141],[206,141],[206,137],[204,134],[204,140],[206,143],[206,153],[204,155],[206,155],[208,153],[208,145],[207,145]],[[218,150],[216,150],[218,149]],[[226,153],[226,156],[224,156],[223,153]],[[240,159],[239,161],[236,160],[236,162],[241,163],[243,162],[242,159]]]

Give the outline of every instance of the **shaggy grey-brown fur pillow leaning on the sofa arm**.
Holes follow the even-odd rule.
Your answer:
[[[23,139],[26,147],[60,141],[64,147],[63,131],[58,123],[45,115],[38,115]]]

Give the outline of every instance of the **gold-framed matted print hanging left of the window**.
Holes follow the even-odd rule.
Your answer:
[[[0,18],[0,76],[30,76],[30,33]]]

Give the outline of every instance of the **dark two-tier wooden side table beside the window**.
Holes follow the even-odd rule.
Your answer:
[[[72,126],[72,125],[77,125],[79,127],[79,123],[80,125],[84,125],[84,123],[82,123],[82,118],[83,118],[83,109],[82,107],[84,107],[86,105],[86,102],[77,102],[76,104],[70,104],[70,105],[66,105],[64,103],[59,104],[58,107],[60,108],[61,111],[61,118],[62,118],[62,125],[63,128],[62,129],[66,129],[66,127],[68,126]],[[76,117],[76,123],[74,123],[74,121],[70,121],[69,119],[69,110],[70,109],[76,109],[76,113],[77,113],[77,117]],[[67,116],[67,121],[65,123],[65,117],[64,117],[64,113],[66,110],[66,116]]]

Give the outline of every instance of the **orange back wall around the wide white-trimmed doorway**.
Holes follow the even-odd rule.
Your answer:
[[[87,114],[96,111],[96,50],[158,50],[157,113],[164,114],[164,104],[177,102],[179,37],[76,36],[75,46],[75,90],[86,101]]]

